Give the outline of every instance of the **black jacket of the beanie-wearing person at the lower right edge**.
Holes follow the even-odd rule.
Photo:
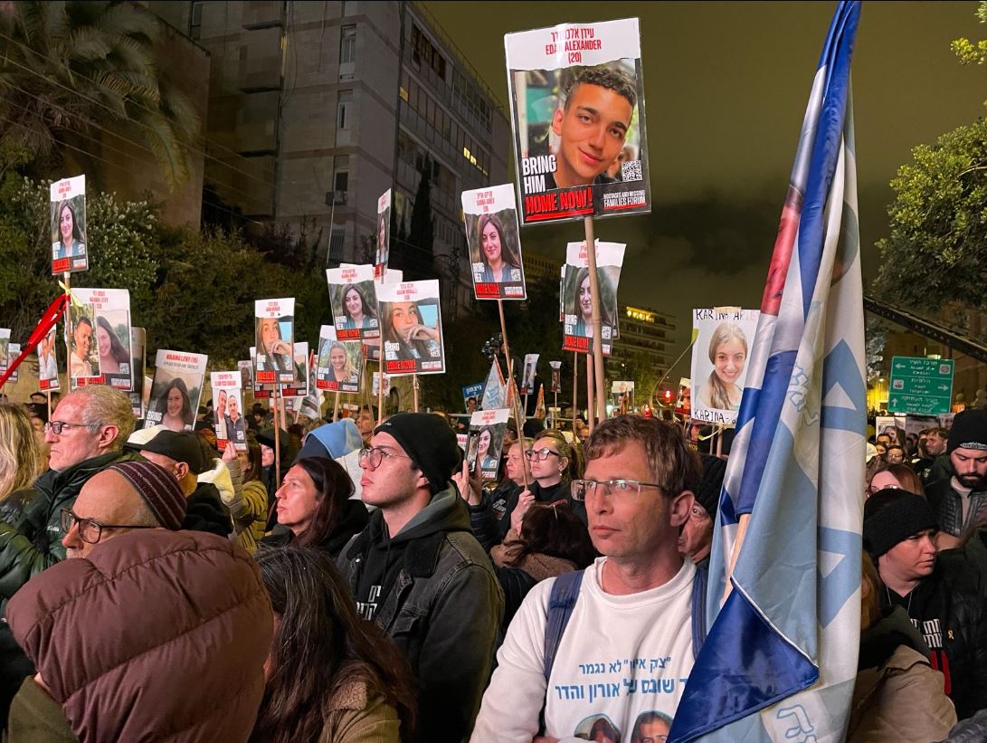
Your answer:
[[[943,553],[933,573],[905,597],[885,590],[884,607],[905,608],[929,645],[932,667],[946,677],[959,719],[987,707],[987,612],[984,580],[961,551]]]

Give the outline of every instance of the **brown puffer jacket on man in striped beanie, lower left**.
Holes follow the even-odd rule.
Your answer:
[[[246,741],[273,619],[253,559],[204,532],[121,534],[52,565],[7,619],[86,741]]]

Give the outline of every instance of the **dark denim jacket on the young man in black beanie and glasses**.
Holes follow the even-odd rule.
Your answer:
[[[337,566],[364,616],[372,614],[411,663],[418,681],[415,740],[467,740],[503,615],[493,565],[470,533],[466,503],[454,486],[432,496],[393,539],[383,516],[373,512]],[[368,568],[368,557],[376,566]],[[382,581],[379,594],[377,587],[370,593],[374,607],[359,595],[365,570]]]

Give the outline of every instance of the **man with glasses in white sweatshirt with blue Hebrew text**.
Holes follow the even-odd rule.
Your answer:
[[[699,460],[677,427],[639,415],[600,423],[585,455],[585,479],[573,481],[572,496],[585,500],[604,557],[582,575],[548,679],[549,599],[565,576],[525,598],[497,652],[475,743],[630,740],[635,729],[670,720],[681,699],[694,661],[693,618],[702,612],[697,570],[677,545]]]

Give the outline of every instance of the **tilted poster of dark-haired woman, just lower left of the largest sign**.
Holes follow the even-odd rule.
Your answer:
[[[525,299],[514,186],[464,190],[462,201],[477,299]]]

